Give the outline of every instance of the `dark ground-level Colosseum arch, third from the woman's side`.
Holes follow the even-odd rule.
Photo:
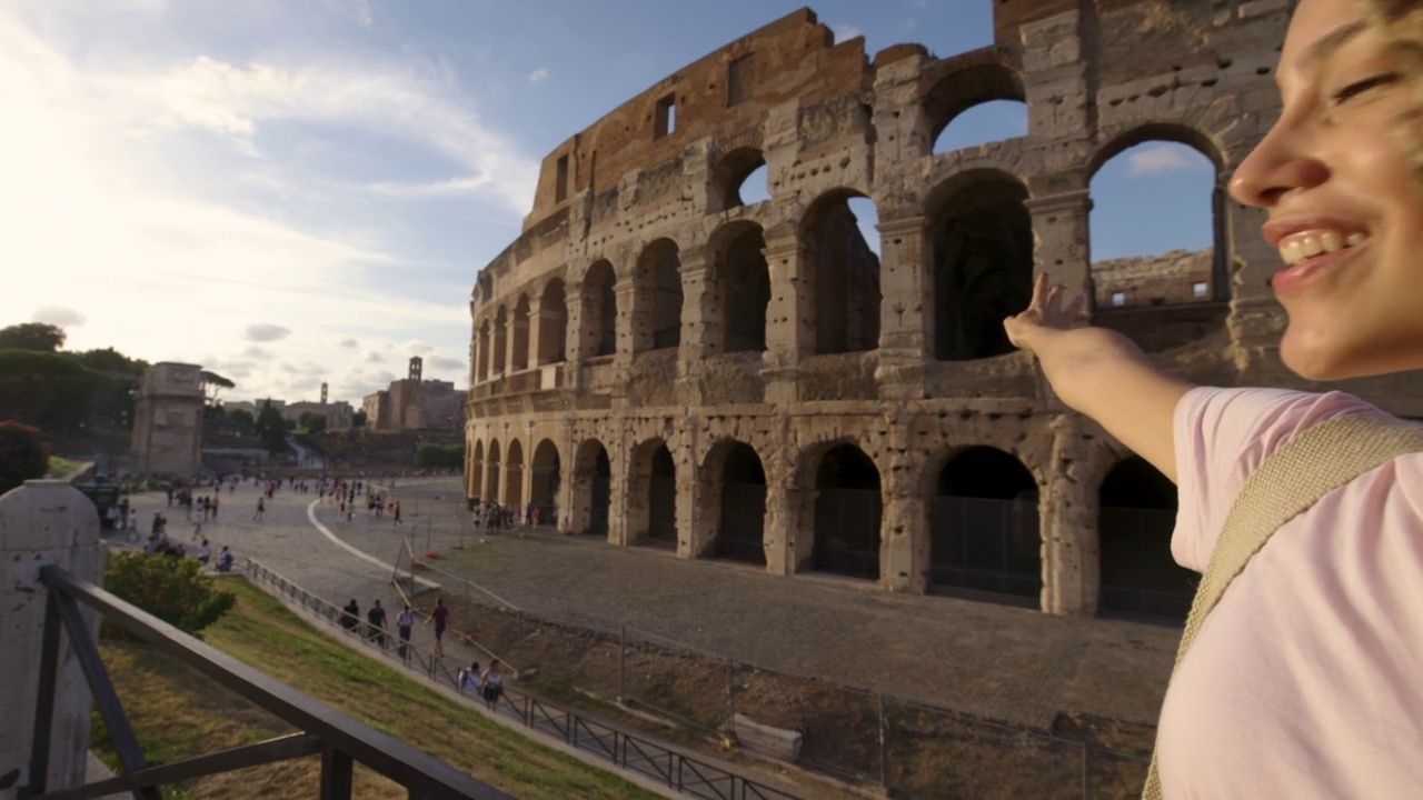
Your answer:
[[[814,498],[810,567],[852,578],[879,579],[884,495],[879,468],[848,441],[825,443],[811,456],[801,480]]]

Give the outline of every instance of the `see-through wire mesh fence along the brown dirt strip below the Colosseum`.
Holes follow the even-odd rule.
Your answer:
[[[401,557],[403,577],[413,577],[411,561]],[[447,604],[464,604],[457,619],[480,621],[482,648],[515,659],[544,693],[616,700],[704,737],[734,737],[737,716],[798,732],[798,764],[895,797],[1124,797],[1146,779],[1144,752],[761,669],[626,625],[536,614],[428,564],[420,571],[440,577]]]

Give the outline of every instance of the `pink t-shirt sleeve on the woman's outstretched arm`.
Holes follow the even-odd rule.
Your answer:
[[[1266,456],[1338,414],[1373,410],[1352,394],[1284,389],[1187,391],[1175,406],[1177,495],[1171,555],[1204,572],[1235,497]]]

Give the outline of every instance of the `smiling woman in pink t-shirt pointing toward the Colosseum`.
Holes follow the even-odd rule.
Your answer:
[[[1389,6],[1413,9],[1416,3]],[[1419,88],[1407,20],[1301,0],[1281,51],[1279,120],[1234,174],[1268,212],[1309,380],[1423,367]],[[1081,300],[1039,279],[1005,322],[1063,403],[1180,487],[1171,552],[1204,571],[1245,477],[1298,433],[1372,410],[1355,397],[1192,387],[1126,337],[1072,327]],[[1165,797],[1406,797],[1423,787],[1423,454],[1386,463],[1278,528],[1177,666],[1157,756]]]

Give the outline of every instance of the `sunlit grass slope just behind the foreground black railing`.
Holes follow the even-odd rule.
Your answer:
[[[233,579],[228,588],[238,594],[238,605],[203,631],[208,643],[381,733],[517,797],[656,797],[346,649],[245,581]],[[101,649],[149,763],[293,730],[151,645],[102,642]],[[117,763],[102,725],[95,725],[94,746],[110,766]],[[320,762],[312,756],[169,787],[164,797],[314,797],[319,774]],[[356,797],[394,796],[403,796],[394,783],[357,766]]]

